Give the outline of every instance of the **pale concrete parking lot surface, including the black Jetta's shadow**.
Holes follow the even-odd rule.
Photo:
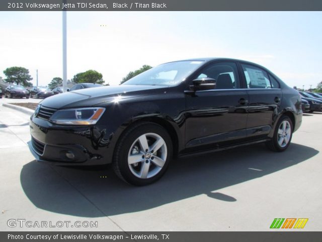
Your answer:
[[[322,113],[303,115],[285,152],[259,144],[178,159],[157,183],[133,187],[109,165],[36,162],[28,147],[29,116],[2,106],[15,101],[0,99],[3,231],[267,231],[274,218],[308,218],[303,230],[320,231]],[[10,227],[9,219],[98,226]]]

